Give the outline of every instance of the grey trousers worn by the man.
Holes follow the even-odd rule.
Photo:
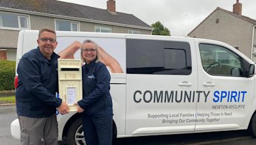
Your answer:
[[[56,114],[47,118],[30,118],[18,115],[20,143],[22,145],[58,144],[58,122]]]

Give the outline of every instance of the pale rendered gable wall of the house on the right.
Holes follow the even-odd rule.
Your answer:
[[[255,44],[252,42],[255,36],[253,25],[256,25],[256,20],[218,7],[189,32],[188,36],[222,41],[252,58],[252,53],[255,53],[252,52],[252,44]]]

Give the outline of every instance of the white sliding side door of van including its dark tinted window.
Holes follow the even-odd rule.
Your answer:
[[[126,42],[125,133],[137,136],[193,132],[196,102],[204,100],[197,92],[193,41],[134,36]]]

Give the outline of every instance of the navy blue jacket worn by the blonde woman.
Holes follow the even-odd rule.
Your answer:
[[[77,104],[90,116],[113,114],[110,90],[110,74],[102,62],[90,62],[82,67],[83,100]]]

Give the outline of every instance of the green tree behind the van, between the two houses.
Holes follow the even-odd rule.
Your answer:
[[[157,21],[151,26],[153,27],[152,35],[171,36],[169,29],[164,27],[164,25],[161,24],[161,22]]]

